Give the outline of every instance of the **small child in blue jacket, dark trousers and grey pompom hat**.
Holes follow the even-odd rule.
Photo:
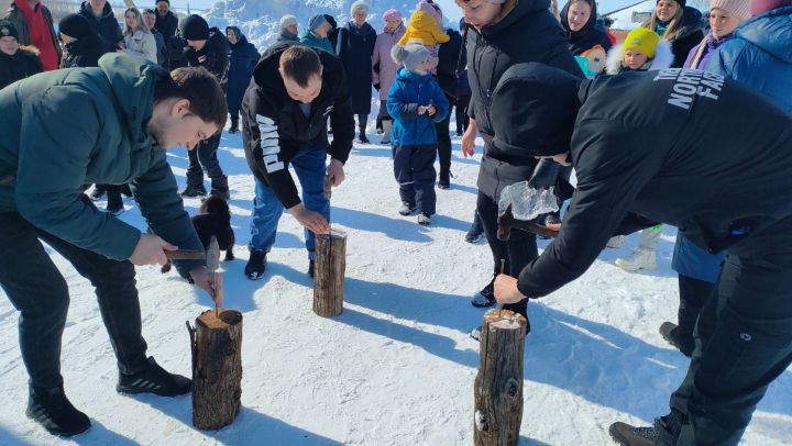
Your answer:
[[[387,111],[394,119],[394,175],[399,183],[402,215],[418,211],[418,223],[428,225],[435,214],[435,157],[437,134],[435,123],[446,119],[449,102],[435,75],[437,58],[421,44],[395,45],[391,56],[399,69],[387,98]]]

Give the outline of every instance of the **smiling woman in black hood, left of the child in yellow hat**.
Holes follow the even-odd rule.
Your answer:
[[[586,14],[587,13],[587,14]],[[561,10],[561,27],[566,33],[573,56],[600,45],[607,52],[610,40],[604,30],[597,26],[596,3],[594,0],[571,0]]]

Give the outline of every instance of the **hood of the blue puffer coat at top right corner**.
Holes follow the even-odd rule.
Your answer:
[[[792,64],[792,7],[778,8],[740,23],[734,32],[743,38]]]

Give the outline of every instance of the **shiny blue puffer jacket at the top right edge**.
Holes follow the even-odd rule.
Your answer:
[[[712,56],[707,71],[761,91],[792,113],[792,7],[778,8],[740,23],[735,38]]]

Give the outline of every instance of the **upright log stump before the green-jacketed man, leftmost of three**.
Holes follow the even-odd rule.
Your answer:
[[[219,430],[239,415],[242,398],[242,313],[209,310],[187,323],[193,347],[193,425]]]

